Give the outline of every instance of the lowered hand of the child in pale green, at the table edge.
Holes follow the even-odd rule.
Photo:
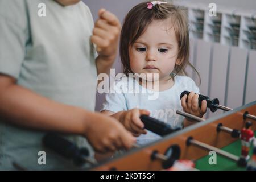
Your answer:
[[[89,119],[84,135],[97,152],[128,150],[136,142],[136,138],[113,117],[93,113]]]

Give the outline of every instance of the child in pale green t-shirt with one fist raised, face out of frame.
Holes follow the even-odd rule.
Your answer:
[[[89,147],[86,137],[99,152],[135,142],[117,120],[93,113],[97,73],[109,72],[120,29],[112,13],[101,9],[99,17],[94,26],[79,0],[0,0],[0,169],[14,169],[14,162],[68,169],[42,145],[47,131],[69,134],[80,147]],[[46,152],[45,165],[39,151]]]

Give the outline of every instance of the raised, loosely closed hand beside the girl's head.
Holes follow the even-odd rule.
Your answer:
[[[117,53],[121,25],[118,18],[105,9],[100,9],[98,16],[91,41],[96,44],[100,56],[112,58]]]

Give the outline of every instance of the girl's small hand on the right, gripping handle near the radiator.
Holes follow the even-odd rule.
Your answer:
[[[183,111],[186,113],[193,114],[201,118],[207,111],[207,101],[203,100],[200,108],[198,105],[198,98],[199,95],[195,92],[189,93],[188,96],[184,95],[181,98],[181,106],[183,107]],[[188,101],[186,102],[187,99]]]

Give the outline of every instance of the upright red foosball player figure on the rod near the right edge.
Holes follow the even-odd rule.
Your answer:
[[[250,144],[251,141],[254,138],[254,133],[253,130],[251,130],[251,122],[246,122],[245,124],[245,128],[243,128],[241,130],[241,141],[242,141],[242,152],[241,155],[243,158],[245,158],[246,160],[248,160],[250,158],[249,156],[249,150],[250,150]]]

